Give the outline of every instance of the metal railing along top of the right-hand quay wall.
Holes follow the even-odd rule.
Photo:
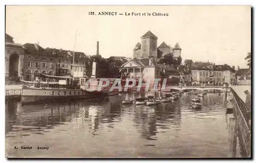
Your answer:
[[[245,118],[247,125],[249,126],[249,120],[251,120],[251,110],[246,106],[245,102],[238,96],[236,91],[234,91],[232,88],[230,88],[230,90],[234,96],[234,99],[236,99],[238,103],[238,106]]]

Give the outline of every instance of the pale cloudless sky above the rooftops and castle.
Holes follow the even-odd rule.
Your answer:
[[[109,11],[117,15],[98,15]],[[132,12],[141,16],[125,16]],[[147,16],[153,12],[168,16]],[[6,33],[15,43],[39,42],[42,48],[75,49],[95,55],[99,41],[102,57],[132,58],[135,45],[148,30],[158,37],[158,46],[164,41],[174,47],[178,42],[183,61],[248,67],[244,58],[251,51],[250,6],[6,7]]]

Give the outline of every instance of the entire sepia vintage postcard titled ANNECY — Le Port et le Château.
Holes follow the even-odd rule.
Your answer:
[[[7,158],[251,157],[251,6],[6,6]]]

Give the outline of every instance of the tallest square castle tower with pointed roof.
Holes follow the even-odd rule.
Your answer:
[[[141,36],[141,58],[157,58],[157,36],[148,31]]]

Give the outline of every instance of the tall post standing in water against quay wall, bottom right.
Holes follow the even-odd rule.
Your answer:
[[[228,127],[229,152],[228,157],[236,157],[238,124],[236,118],[229,118]]]

